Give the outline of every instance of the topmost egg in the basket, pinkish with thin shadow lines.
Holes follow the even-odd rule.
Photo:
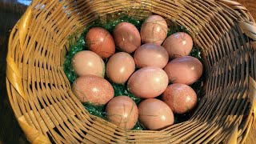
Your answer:
[[[167,36],[167,23],[159,15],[151,15],[142,24],[141,37],[142,43],[154,43],[161,45]]]

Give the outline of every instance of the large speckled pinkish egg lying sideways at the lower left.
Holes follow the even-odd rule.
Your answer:
[[[77,78],[72,84],[72,91],[81,102],[105,105],[114,97],[114,89],[106,79],[95,75]]]

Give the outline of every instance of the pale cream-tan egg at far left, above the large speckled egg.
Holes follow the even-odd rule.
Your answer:
[[[92,74],[103,78],[105,74],[105,63],[102,58],[90,50],[82,50],[75,54],[72,66],[78,76]]]

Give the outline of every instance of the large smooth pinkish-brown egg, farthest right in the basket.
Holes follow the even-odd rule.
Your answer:
[[[190,85],[202,76],[202,63],[194,57],[183,56],[170,61],[164,70],[169,81]]]

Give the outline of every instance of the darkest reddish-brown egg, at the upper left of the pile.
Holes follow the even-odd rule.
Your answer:
[[[102,27],[94,27],[88,31],[86,45],[102,58],[109,58],[115,51],[114,39]]]

